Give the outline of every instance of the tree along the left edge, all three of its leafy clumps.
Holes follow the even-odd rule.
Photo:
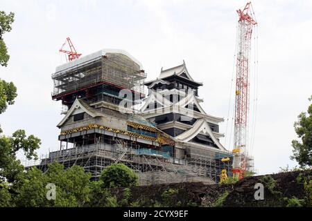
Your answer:
[[[3,41],[3,34],[12,30],[14,21],[14,13],[0,11],[0,65],[7,66],[8,51],[6,44]],[[14,104],[14,99],[17,97],[17,88],[12,82],[6,82],[0,79],[0,114],[6,111],[8,105]],[[0,128],[0,133],[2,130]],[[11,137],[4,135],[0,136],[0,183],[15,182],[18,173],[23,171],[24,167],[16,158],[17,151],[24,151],[26,157],[31,159],[37,157],[35,150],[39,148],[40,139],[34,135],[26,137],[24,130],[19,130],[13,133]]]

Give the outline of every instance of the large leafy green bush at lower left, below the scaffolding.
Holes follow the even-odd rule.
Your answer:
[[[89,201],[89,178],[82,167],[72,166],[64,171],[64,166],[55,162],[49,164],[46,173],[32,167],[27,173],[19,174],[14,186],[17,206],[83,206]],[[55,200],[47,200],[46,185],[56,186]]]

